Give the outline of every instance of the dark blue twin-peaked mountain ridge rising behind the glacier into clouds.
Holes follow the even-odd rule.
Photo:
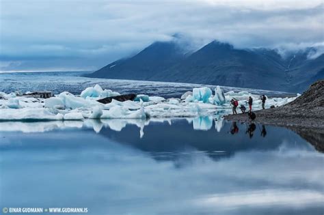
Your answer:
[[[324,55],[310,59],[311,51],[308,48],[282,58],[266,48],[238,49],[213,41],[185,53],[176,42],[154,42],[137,55],[88,76],[301,92],[324,78]]]

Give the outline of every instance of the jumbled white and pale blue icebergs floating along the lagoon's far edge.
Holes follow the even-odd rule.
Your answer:
[[[212,117],[219,110],[230,112],[230,100],[239,100],[247,105],[249,96],[254,99],[252,108],[261,109],[260,95],[247,91],[228,91],[221,87],[212,91],[208,87],[193,88],[181,98],[165,99],[161,96],[139,94],[134,101],[109,104],[97,102],[107,96],[118,96],[118,92],[102,89],[99,85],[87,87],[80,95],[64,91],[52,98],[33,98],[0,92],[0,120],[83,120],[83,119],[148,119],[168,117]],[[298,95],[297,95],[298,96]],[[266,108],[281,106],[293,98],[267,98]],[[214,116],[215,117],[215,116]],[[195,127],[209,128],[206,120],[195,121]],[[200,125],[200,126],[198,126]]]

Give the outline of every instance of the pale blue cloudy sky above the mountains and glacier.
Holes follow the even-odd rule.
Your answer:
[[[193,50],[323,52],[324,0],[0,0],[0,71],[94,71],[176,33]]]

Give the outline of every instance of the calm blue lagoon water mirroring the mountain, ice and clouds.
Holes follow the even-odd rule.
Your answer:
[[[0,207],[324,213],[323,153],[286,128],[205,117],[7,122],[0,130]]]

